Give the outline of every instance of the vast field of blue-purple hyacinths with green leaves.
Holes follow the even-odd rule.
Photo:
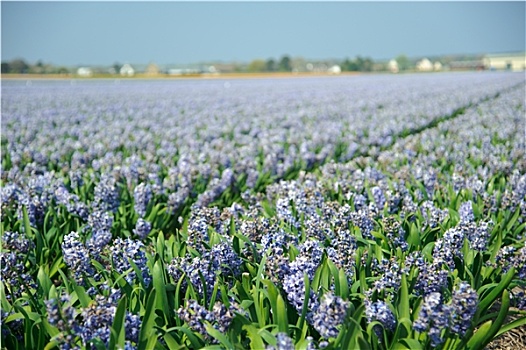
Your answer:
[[[1,347],[484,349],[526,324],[525,88],[3,80]]]

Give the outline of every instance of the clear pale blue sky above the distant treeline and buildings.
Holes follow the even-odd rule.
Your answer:
[[[2,60],[197,63],[524,51],[525,2],[1,2]]]

